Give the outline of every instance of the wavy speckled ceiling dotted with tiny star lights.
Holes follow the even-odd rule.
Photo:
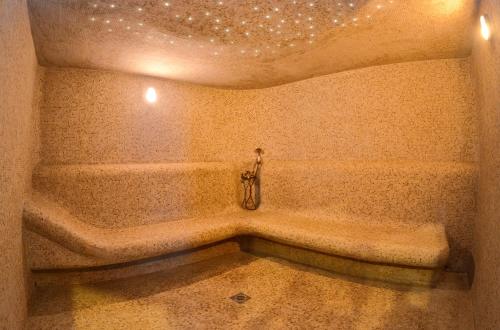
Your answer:
[[[29,0],[42,65],[260,88],[470,53],[475,0]]]

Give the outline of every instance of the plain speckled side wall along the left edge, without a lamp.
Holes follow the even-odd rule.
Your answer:
[[[22,207],[30,187],[37,61],[26,3],[0,1],[0,329],[23,329]]]

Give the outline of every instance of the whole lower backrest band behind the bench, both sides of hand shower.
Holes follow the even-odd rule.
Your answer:
[[[40,166],[33,185],[85,223],[127,228],[237,211],[242,199],[238,178],[245,166]],[[311,221],[443,224],[451,248],[448,266],[457,271],[470,266],[474,163],[266,160],[261,179],[262,210],[302,214]],[[44,242],[37,246],[58,250]]]

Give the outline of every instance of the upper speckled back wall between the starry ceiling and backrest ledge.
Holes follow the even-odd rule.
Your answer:
[[[145,103],[149,86],[158,101]],[[274,88],[220,90],[47,70],[45,164],[265,159],[475,161],[467,59],[370,67]]]

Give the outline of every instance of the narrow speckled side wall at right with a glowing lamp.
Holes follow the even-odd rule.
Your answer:
[[[474,230],[473,285],[477,329],[500,328],[500,3],[481,2],[492,39],[480,37],[472,54],[480,107],[478,217]],[[478,24],[479,26],[479,24]]]

